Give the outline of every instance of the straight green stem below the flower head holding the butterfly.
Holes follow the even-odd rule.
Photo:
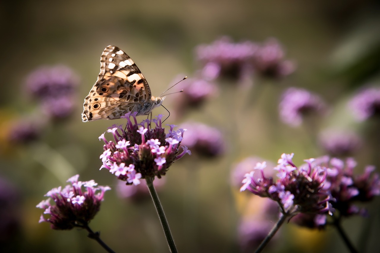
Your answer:
[[[152,178],[146,178],[146,184],[148,186],[150,196],[152,196],[154,206],[156,207],[158,217],[161,221],[161,226],[164,229],[166,240],[168,241],[170,251],[172,253],[177,253],[176,245],[174,244],[173,236],[171,235],[168,221],[166,220],[164,210],[162,209],[160,199],[158,199],[157,192],[153,186]]]

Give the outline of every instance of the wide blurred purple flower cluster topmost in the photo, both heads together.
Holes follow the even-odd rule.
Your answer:
[[[283,77],[294,71],[294,64],[283,60],[280,44],[269,39],[263,45],[251,41],[234,43],[222,37],[209,45],[196,47],[196,57],[203,64],[202,76],[243,79],[256,72],[262,76]]]

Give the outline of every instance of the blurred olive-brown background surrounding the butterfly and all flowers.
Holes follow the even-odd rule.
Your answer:
[[[12,211],[2,211],[5,230],[1,228],[1,233],[6,240],[0,247],[9,252],[103,252],[85,231],[53,231],[47,223],[38,223],[42,210],[35,206],[45,199],[43,195],[79,173],[80,180],[94,179],[112,188],[90,223],[108,245],[116,252],[168,251],[149,196],[120,198],[115,177],[99,171],[103,144],[98,136],[112,124],[125,122],[81,121],[83,99],[96,81],[100,54],[109,44],[130,55],[153,95],[174,79],[195,76],[200,68],[195,47],[221,36],[258,43],[276,38],[285,58],[296,64],[293,74],[280,80],[253,78],[250,88],[217,81],[215,96],[182,116],[175,114],[173,101],[183,94],[166,98],[166,108],[176,115],[167,123],[205,123],[218,128],[226,144],[225,153],[212,159],[195,153],[179,160],[159,188],[180,252],[241,251],[237,227],[253,200],[231,185],[230,175],[234,164],[246,157],[275,163],[281,153],[294,152],[293,161],[301,164],[325,154],[316,141],[317,132],[339,126],[363,138],[362,148],[353,154],[358,172],[367,164],[379,166],[378,121],[355,122],[346,106],[363,85],[380,84],[379,10],[378,2],[370,0],[3,1],[0,177],[1,194],[10,199]],[[57,64],[70,67],[80,82],[73,114],[49,121],[25,85],[36,68]],[[280,121],[280,96],[291,86],[312,90],[329,105],[330,113],[317,120],[314,132]],[[154,115],[159,113],[167,115],[162,107],[154,111]],[[23,124],[26,119],[44,124],[38,138],[27,143],[10,141],[14,122]],[[253,205],[260,208],[261,204]],[[378,199],[367,207],[372,226],[366,227],[368,219],[363,217],[347,219],[343,226],[354,245],[364,250],[364,241],[366,252],[374,252],[378,249]],[[8,217],[9,213],[13,215]],[[266,252],[346,250],[333,228],[319,232],[285,224],[275,240]]]

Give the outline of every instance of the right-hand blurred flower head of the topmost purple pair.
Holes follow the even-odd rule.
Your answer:
[[[290,60],[284,60],[284,51],[279,42],[270,38],[258,47],[253,58],[255,71],[262,76],[284,77],[293,73],[295,65]]]

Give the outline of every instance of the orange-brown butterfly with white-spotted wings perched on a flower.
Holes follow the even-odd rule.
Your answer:
[[[84,99],[82,121],[119,119],[127,112],[147,115],[164,97],[154,97],[133,60],[119,47],[108,46],[100,57],[100,73]]]

